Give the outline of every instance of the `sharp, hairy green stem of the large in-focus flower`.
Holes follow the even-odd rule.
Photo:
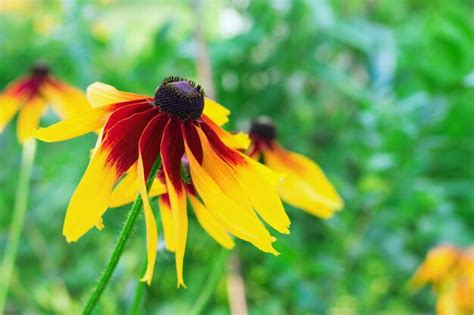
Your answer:
[[[153,164],[153,167],[151,169],[150,175],[147,180],[148,191],[151,188],[153,179],[155,177],[156,172],[158,171],[160,164],[161,164],[160,158],[158,158],[155,161],[155,164]],[[140,215],[142,203],[143,203],[142,199],[140,195],[138,195],[137,198],[135,199],[135,202],[132,205],[132,208],[130,209],[130,212],[127,215],[127,219],[125,220],[125,225],[123,226],[122,231],[120,232],[117,244],[115,244],[114,251],[112,252],[112,256],[110,257],[109,262],[107,263],[107,266],[104,269],[104,272],[100,276],[97,286],[94,288],[94,291],[92,291],[91,295],[87,299],[86,305],[84,306],[84,309],[82,310],[82,314],[92,313],[97,302],[99,301],[100,296],[104,292],[104,289],[107,287],[107,284],[109,283],[110,278],[112,277],[115,271],[115,268],[117,267],[120,257],[122,256],[123,250],[125,249],[125,245],[127,245],[127,241],[130,238],[133,227],[135,226],[135,222],[137,221],[137,218]]]

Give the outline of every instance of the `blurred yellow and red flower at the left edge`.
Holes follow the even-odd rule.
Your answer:
[[[17,137],[23,143],[32,137],[49,104],[60,118],[89,108],[80,90],[55,78],[46,65],[36,64],[29,75],[12,82],[0,93],[0,132],[19,112]]]

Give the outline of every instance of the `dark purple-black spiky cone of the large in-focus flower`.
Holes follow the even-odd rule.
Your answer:
[[[169,77],[156,90],[155,105],[181,120],[195,120],[204,109],[204,91],[193,81]]]

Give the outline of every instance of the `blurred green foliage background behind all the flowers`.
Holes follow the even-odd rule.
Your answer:
[[[474,242],[473,17],[468,0],[0,0],[0,88],[39,59],[82,89],[152,94],[168,75],[199,81],[201,27],[227,127],[272,117],[279,141],[318,161],[346,202],[328,221],[288,206],[280,257],[238,242],[251,314],[430,314],[433,296],[411,292],[409,277],[429,248]],[[14,123],[0,135],[2,251],[21,153]],[[38,145],[12,314],[77,313],[111,253],[127,207],[105,215],[103,232],[72,245],[61,235],[95,137]],[[188,287],[176,289],[161,250],[142,314],[188,314],[216,272],[204,313],[229,312],[226,255],[190,216]],[[140,219],[97,313],[130,307],[144,235]]]

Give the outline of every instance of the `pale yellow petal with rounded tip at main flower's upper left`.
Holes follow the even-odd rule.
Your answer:
[[[148,98],[148,96],[122,92],[111,85],[95,82],[87,87],[87,99],[94,107]]]

